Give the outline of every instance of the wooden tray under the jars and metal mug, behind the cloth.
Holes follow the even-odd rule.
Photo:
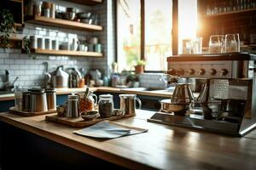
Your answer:
[[[134,115],[111,116],[108,118],[98,117],[92,121],[84,121],[84,119],[81,116],[79,116],[78,118],[69,118],[65,116],[51,115],[51,116],[45,116],[45,120],[49,122],[61,123],[63,125],[67,125],[70,127],[87,127],[97,122],[102,122],[104,120],[113,121],[113,120],[123,119],[130,116],[134,116]]]

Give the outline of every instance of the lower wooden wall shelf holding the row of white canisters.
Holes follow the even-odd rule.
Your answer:
[[[22,51],[22,53],[26,53],[26,52]],[[71,55],[71,56],[84,56],[84,57],[103,57],[102,53],[70,51],[70,50],[31,49],[31,53],[32,54],[50,54],[50,55]]]

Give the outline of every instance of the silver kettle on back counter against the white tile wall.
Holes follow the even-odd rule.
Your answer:
[[[63,71],[63,65],[58,66],[50,75],[53,88],[68,88],[68,74]]]

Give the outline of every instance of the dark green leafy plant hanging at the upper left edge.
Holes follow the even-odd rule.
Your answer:
[[[1,44],[3,48],[8,48],[9,37],[15,31],[15,20],[13,14],[8,9],[0,10],[0,32]]]

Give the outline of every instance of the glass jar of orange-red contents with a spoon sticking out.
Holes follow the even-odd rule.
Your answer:
[[[90,92],[87,96],[79,94],[79,111],[84,112],[95,110],[97,100],[96,94],[93,94],[92,92]]]

